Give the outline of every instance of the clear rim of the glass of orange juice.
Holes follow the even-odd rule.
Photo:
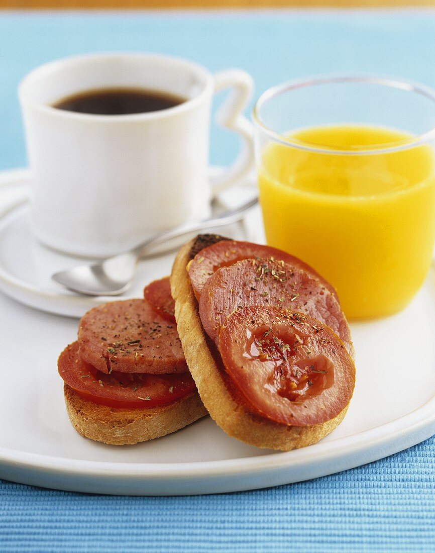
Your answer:
[[[413,92],[420,94],[423,97],[428,98],[434,103],[435,107],[435,90],[431,87],[423,85],[419,82],[410,81],[406,79],[399,79],[396,77],[374,75],[374,74],[327,74],[327,75],[317,75],[313,77],[303,77],[301,79],[292,79],[283,84],[272,86],[268,90],[264,91],[258,100],[255,102],[255,106],[252,111],[252,118],[256,127],[258,127],[262,132],[269,136],[275,142],[280,144],[291,146],[299,150],[304,150],[306,152],[315,152],[322,154],[339,154],[339,155],[368,155],[368,154],[382,154],[389,152],[400,152],[408,148],[413,148],[418,145],[430,142],[435,139],[435,127],[429,129],[422,134],[418,134],[412,140],[407,140],[405,143],[399,143],[392,145],[394,143],[386,143],[385,147],[382,147],[382,144],[379,145],[379,148],[361,148],[358,150],[343,150],[339,148],[328,148],[322,147],[319,145],[313,145],[308,142],[302,142],[301,140],[292,139],[284,134],[273,131],[268,125],[261,119],[260,110],[263,105],[275,98],[280,96],[282,93],[289,92],[291,90],[296,90],[297,88],[304,88],[307,86],[316,86],[324,84],[337,84],[337,83],[347,83],[347,82],[356,82],[356,83],[365,83],[369,85],[380,85],[391,88],[397,88],[399,90],[404,90],[406,92]],[[387,145],[390,144],[390,145]]]

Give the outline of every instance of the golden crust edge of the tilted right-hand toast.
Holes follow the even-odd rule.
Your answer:
[[[172,266],[171,293],[186,361],[208,413],[229,436],[257,447],[289,451],[315,444],[340,424],[348,405],[334,419],[301,427],[276,424],[256,415],[237,398],[217,352],[213,352],[213,345],[205,335],[188,278],[187,263],[197,253],[197,247],[198,238],[195,238],[177,254]]]

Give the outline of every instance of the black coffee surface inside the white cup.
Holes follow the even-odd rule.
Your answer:
[[[98,115],[127,115],[178,106],[186,98],[145,88],[101,88],[79,92],[53,104],[58,109]]]

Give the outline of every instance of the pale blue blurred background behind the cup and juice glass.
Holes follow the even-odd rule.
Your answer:
[[[295,77],[331,71],[380,72],[435,87],[435,12],[4,14],[0,169],[26,163],[19,80],[46,61],[98,51],[184,56],[211,71],[240,67],[254,77],[255,96]],[[211,162],[229,163],[237,145],[215,126]]]

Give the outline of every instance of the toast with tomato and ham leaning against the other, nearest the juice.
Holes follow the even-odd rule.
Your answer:
[[[208,413],[258,447],[314,444],[343,420],[353,345],[336,291],[275,248],[200,235],[171,273],[175,318]]]

